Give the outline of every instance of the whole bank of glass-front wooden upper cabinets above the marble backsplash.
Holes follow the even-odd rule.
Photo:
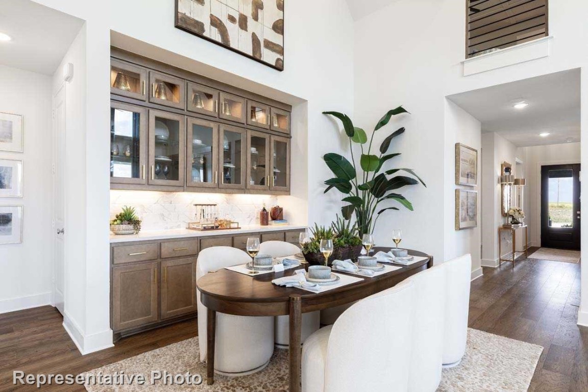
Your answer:
[[[111,59],[112,189],[289,194],[286,105],[132,56]]]

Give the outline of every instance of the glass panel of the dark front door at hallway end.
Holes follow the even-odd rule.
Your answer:
[[[573,226],[574,177],[572,169],[549,170],[549,225]]]

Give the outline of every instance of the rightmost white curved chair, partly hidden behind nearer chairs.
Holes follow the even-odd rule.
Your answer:
[[[466,352],[472,256],[465,254],[440,267],[446,270],[443,367],[453,367]]]

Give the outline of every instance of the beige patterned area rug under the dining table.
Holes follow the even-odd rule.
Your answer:
[[[539,361],[543,347],[497,336],[487,332],[469,329],[467,349],[459,366],[443,369],[439,389],[443,392],[508,391],[524,392],[529,387],[533,372]],[[99,373],[125,375],[143,374],[145,385],[89,385],[89,392],[110,391],[287,391],[288,390],[288,350],[276,349],[268,367],[259,373],[245,377],[225,377],[215,375],[215,383],[206,385],[163,385],[161,381],[150,384],[152,370],[169,374],[206,374],[206,365],[198,358],[198,338],[171,344],[161,349],[148,351],[86,373],[97,376]]]

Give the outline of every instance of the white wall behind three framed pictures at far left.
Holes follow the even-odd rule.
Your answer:
[[[24,206],[21,244],[0,245],[0,313],[51,301],[51,77],[0,65],[0,111],[24,116],[24,153],[0,151],[23,162],[22,198],[0,205]]]

